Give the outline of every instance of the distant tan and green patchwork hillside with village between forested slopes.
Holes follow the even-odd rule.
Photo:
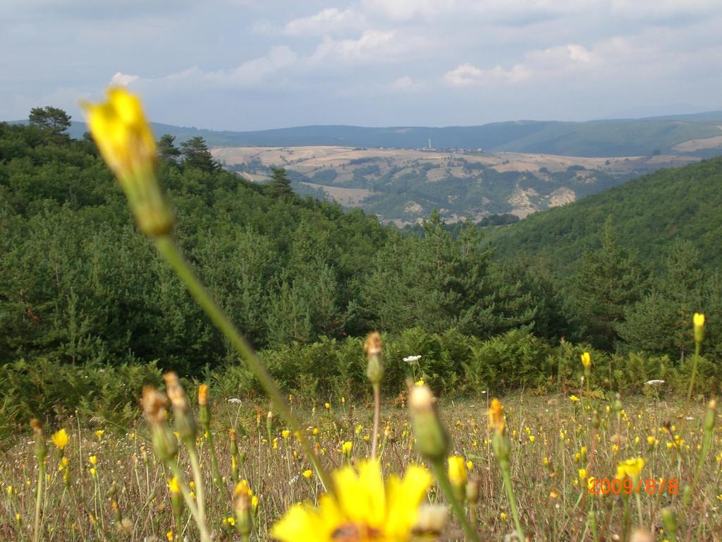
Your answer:
[[[253,182],[287,168],[300,192],[362,207],[387,223],[494,213],[525,217],[621,184],[640,173],[697,162],[685,155],[580,158],[524,152],[441,152],[365,147],[219,147],[214,158]]]

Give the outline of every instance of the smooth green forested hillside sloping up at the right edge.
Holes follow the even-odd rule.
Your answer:
[[[497,256],[543,255],[560,274],[583,250],[599,246],[611,216],[619,244],[640,262],[661,263],[675,238],[700,249],[703,263],[722,264],[722,157],[656,171],[578,202],[497,228],[489,241]]]

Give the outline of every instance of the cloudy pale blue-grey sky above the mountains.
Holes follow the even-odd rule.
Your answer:
[[[0,119],[109,83],[210,129],[722,109],[720,0],[2,0]]]

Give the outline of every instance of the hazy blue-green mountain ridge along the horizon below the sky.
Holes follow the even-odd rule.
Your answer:
[[[232,132],[153,123],[157,137],[170,134],[178,142],[201,136],[211,147],[401,147],[538,152],[565,156],[612,157],[677,152],[675,145],[691,139],[722,136],[722,111],[601,121],[507,121],[482,126],[345,125],[295,126]],[[86,131],[74,121],[71,136]],[[714,147],[714,145],[710,145]],[[704,155],[704,151],[686,154]]]

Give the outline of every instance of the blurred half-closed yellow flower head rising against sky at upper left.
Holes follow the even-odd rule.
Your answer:
[[[122,87],[103,103],[82,103],[103,160],[121,182],[139,228],[149,236],[173,229],[173,213],[156,176],[157,149],[140,100]]]

